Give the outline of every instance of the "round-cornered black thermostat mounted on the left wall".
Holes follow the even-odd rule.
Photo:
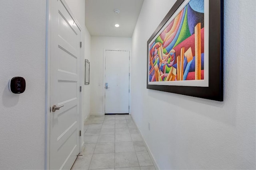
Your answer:
[[[26,89],[26,81],[23,77],[14,77],[9,81],[9,90],[14,94],[23,93]]]

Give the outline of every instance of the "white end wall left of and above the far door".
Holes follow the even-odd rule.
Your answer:
[[[104,49],[130,50],[132,39],[124,37],[91,37],[91,113],[103,114]]]

